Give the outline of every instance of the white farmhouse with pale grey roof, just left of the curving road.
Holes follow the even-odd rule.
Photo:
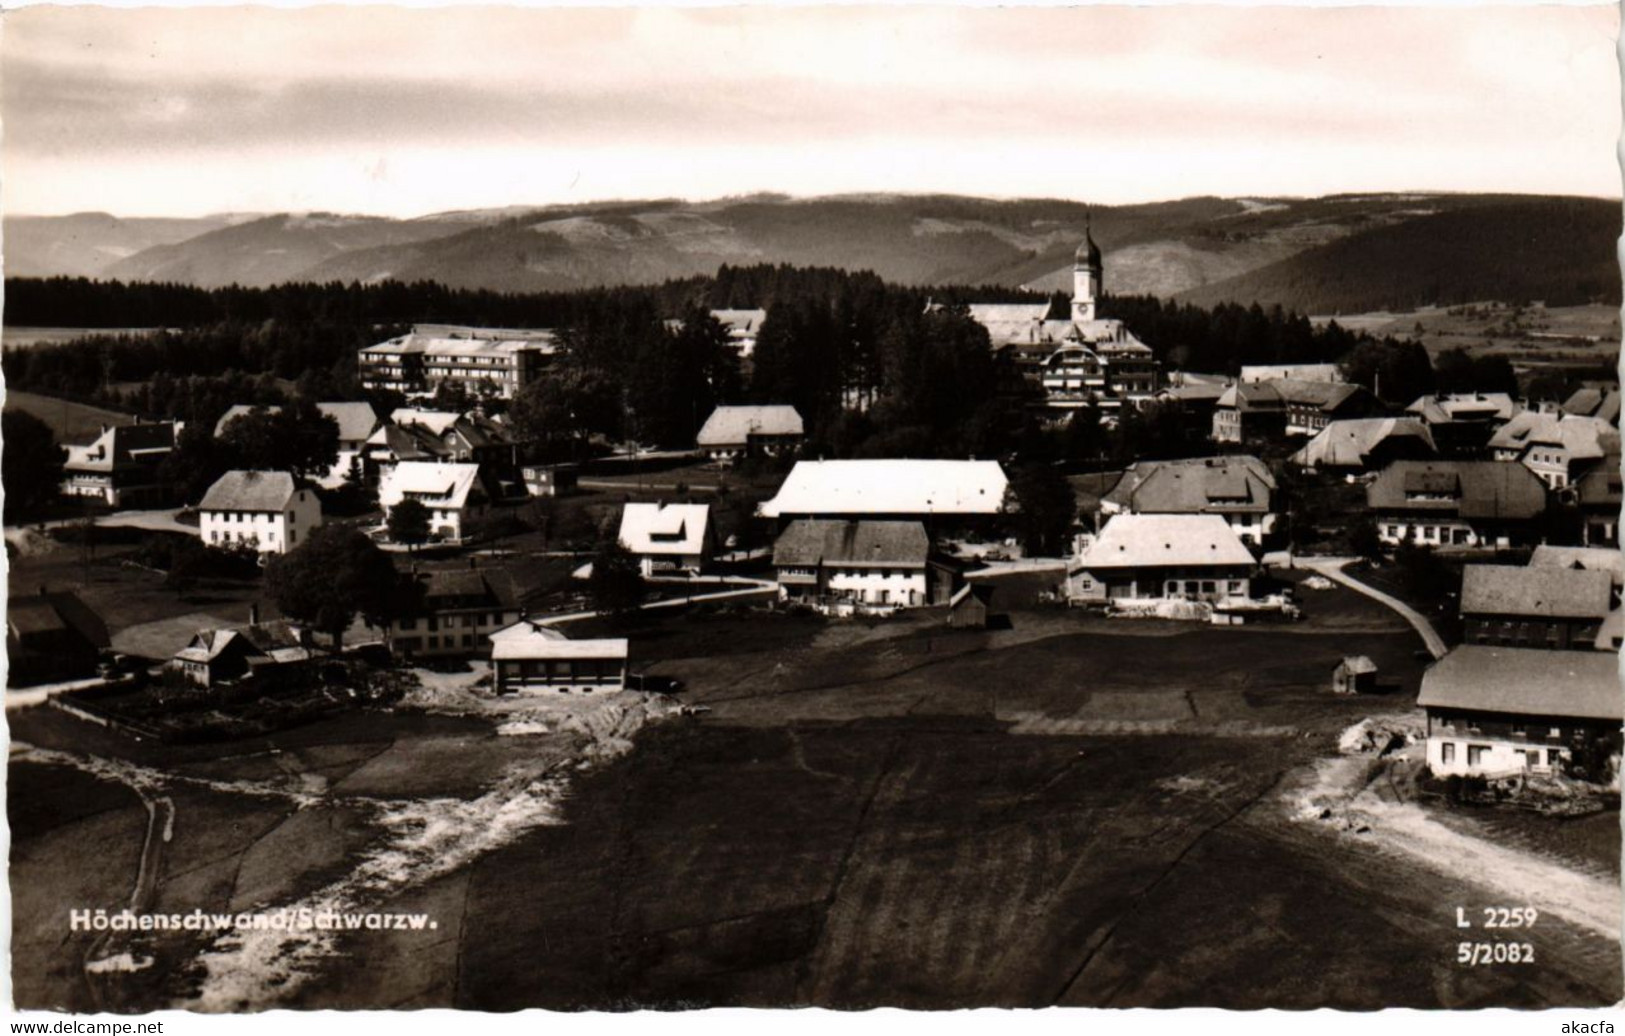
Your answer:
[[[1116,515],[1077,555],[1068,598],[1183,599],[1246,598],[1253,554],[1219,515]]]

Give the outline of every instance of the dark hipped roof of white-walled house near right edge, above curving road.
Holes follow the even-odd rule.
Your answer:
[[[1367,486],[1365,500],[1372,510],[1529,520],[1545,510],[1545,484],[1514,461],[1394,461]]]

